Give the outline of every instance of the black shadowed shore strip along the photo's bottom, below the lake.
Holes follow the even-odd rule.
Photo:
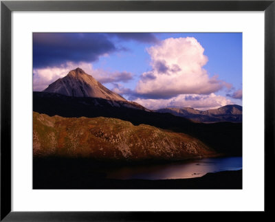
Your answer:
[[[81,175],[41,175],[33,178],[33,189],[242,189],[243,170],[207,173],[188,179],[106,179]],[[45,183],[47,181],[47,183]]]

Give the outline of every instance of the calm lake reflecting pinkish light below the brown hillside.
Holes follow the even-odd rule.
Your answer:
[[[105,173],[109,179],[184,179],[224,170],[241,170],[242,167],[242,157],[216,157],[169,164],[124,166]]]

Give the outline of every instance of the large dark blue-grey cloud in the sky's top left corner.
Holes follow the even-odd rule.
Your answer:
[[[108,36],[99,33],[34,33],[34,68],[66,62],[92,62],[118,49]]]

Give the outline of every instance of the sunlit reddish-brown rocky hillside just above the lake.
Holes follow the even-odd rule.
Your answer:
[[[33,112],[34,157],[192,159],[217,156],[200,140],[115,118],[62,118]]]

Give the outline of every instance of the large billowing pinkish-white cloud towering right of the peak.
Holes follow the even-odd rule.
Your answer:
[[[197,39],[166,38],[147,49],[150,71],[142,74],[135,91],[143,98],[173,98],[180,94],[210,94],[232,85],[208,74],[208,62]]]

